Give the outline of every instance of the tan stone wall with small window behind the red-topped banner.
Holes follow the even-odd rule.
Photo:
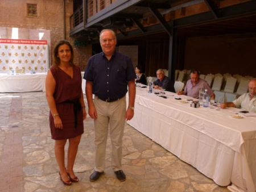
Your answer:
[[[28,35],[28,31],[49,31],[49,36],[43,40],[48,41],[50,55],[52,56],[52,50],[58,40],[66,39],[72,45],[74,44],[74,39],[69,37],[69,17],[73,14],[73,0],[65,0],[65,17],[63,14],[63,1],[1,0],[0,27],[18,28],[19,39],[34,39],[35,36]],[[27,16],[27,3],[37,5],[37,17]],[[10,38],[10,36],[1,35],[0,38]],[[84,70],[89,57],[92,55],[92,47],[87,45],[86,47],[74,46],[73,48],[75,51],[75,64],[79,65],[81,70]],[[52,57],[50,60],[52,62]]]

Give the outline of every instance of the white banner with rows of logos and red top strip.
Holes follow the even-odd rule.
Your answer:
[[[0,39],[0,73],[24,69],[25,73],[47,72],[47,40]]]

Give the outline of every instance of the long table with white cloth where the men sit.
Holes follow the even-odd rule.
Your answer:
[[[230,190],[255,192],[256,117],[232,118],[237,108],[193,108],[191,102],[180,102],[187,101],[185,95],[166,95],[137,88],[134,118],[127,123],[217,185],[232,182]]]

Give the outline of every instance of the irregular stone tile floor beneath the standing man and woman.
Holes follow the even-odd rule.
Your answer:
[[[0,192],[229,191],[128,124],[122,160],[126,181],[119,182],[110,166],[108,140],[106,170],[98,181],[90,182],[95,146],[89,116],[84,121],[74,169],[80,181],[64,186],[58,174],[48,114],[44,92],[0,93]]]

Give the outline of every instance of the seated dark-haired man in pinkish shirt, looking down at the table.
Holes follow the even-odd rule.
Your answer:
[[[192,69],[191,73],[190,73],[191,80],[187,81],[184,91],[177,91],[177,94],[178,95],[188,95],[189,97],[199,99],[199,90],[200,90],[200,88],[203,87],[204,90],[207,89],[210,100],[214,100],[215,95],[214,95],[212,89],[210,89],[210,86],[208,85],[208,83],[206,81],[199,78],[199,75],[200,75],[200,73],[198,70]]]

